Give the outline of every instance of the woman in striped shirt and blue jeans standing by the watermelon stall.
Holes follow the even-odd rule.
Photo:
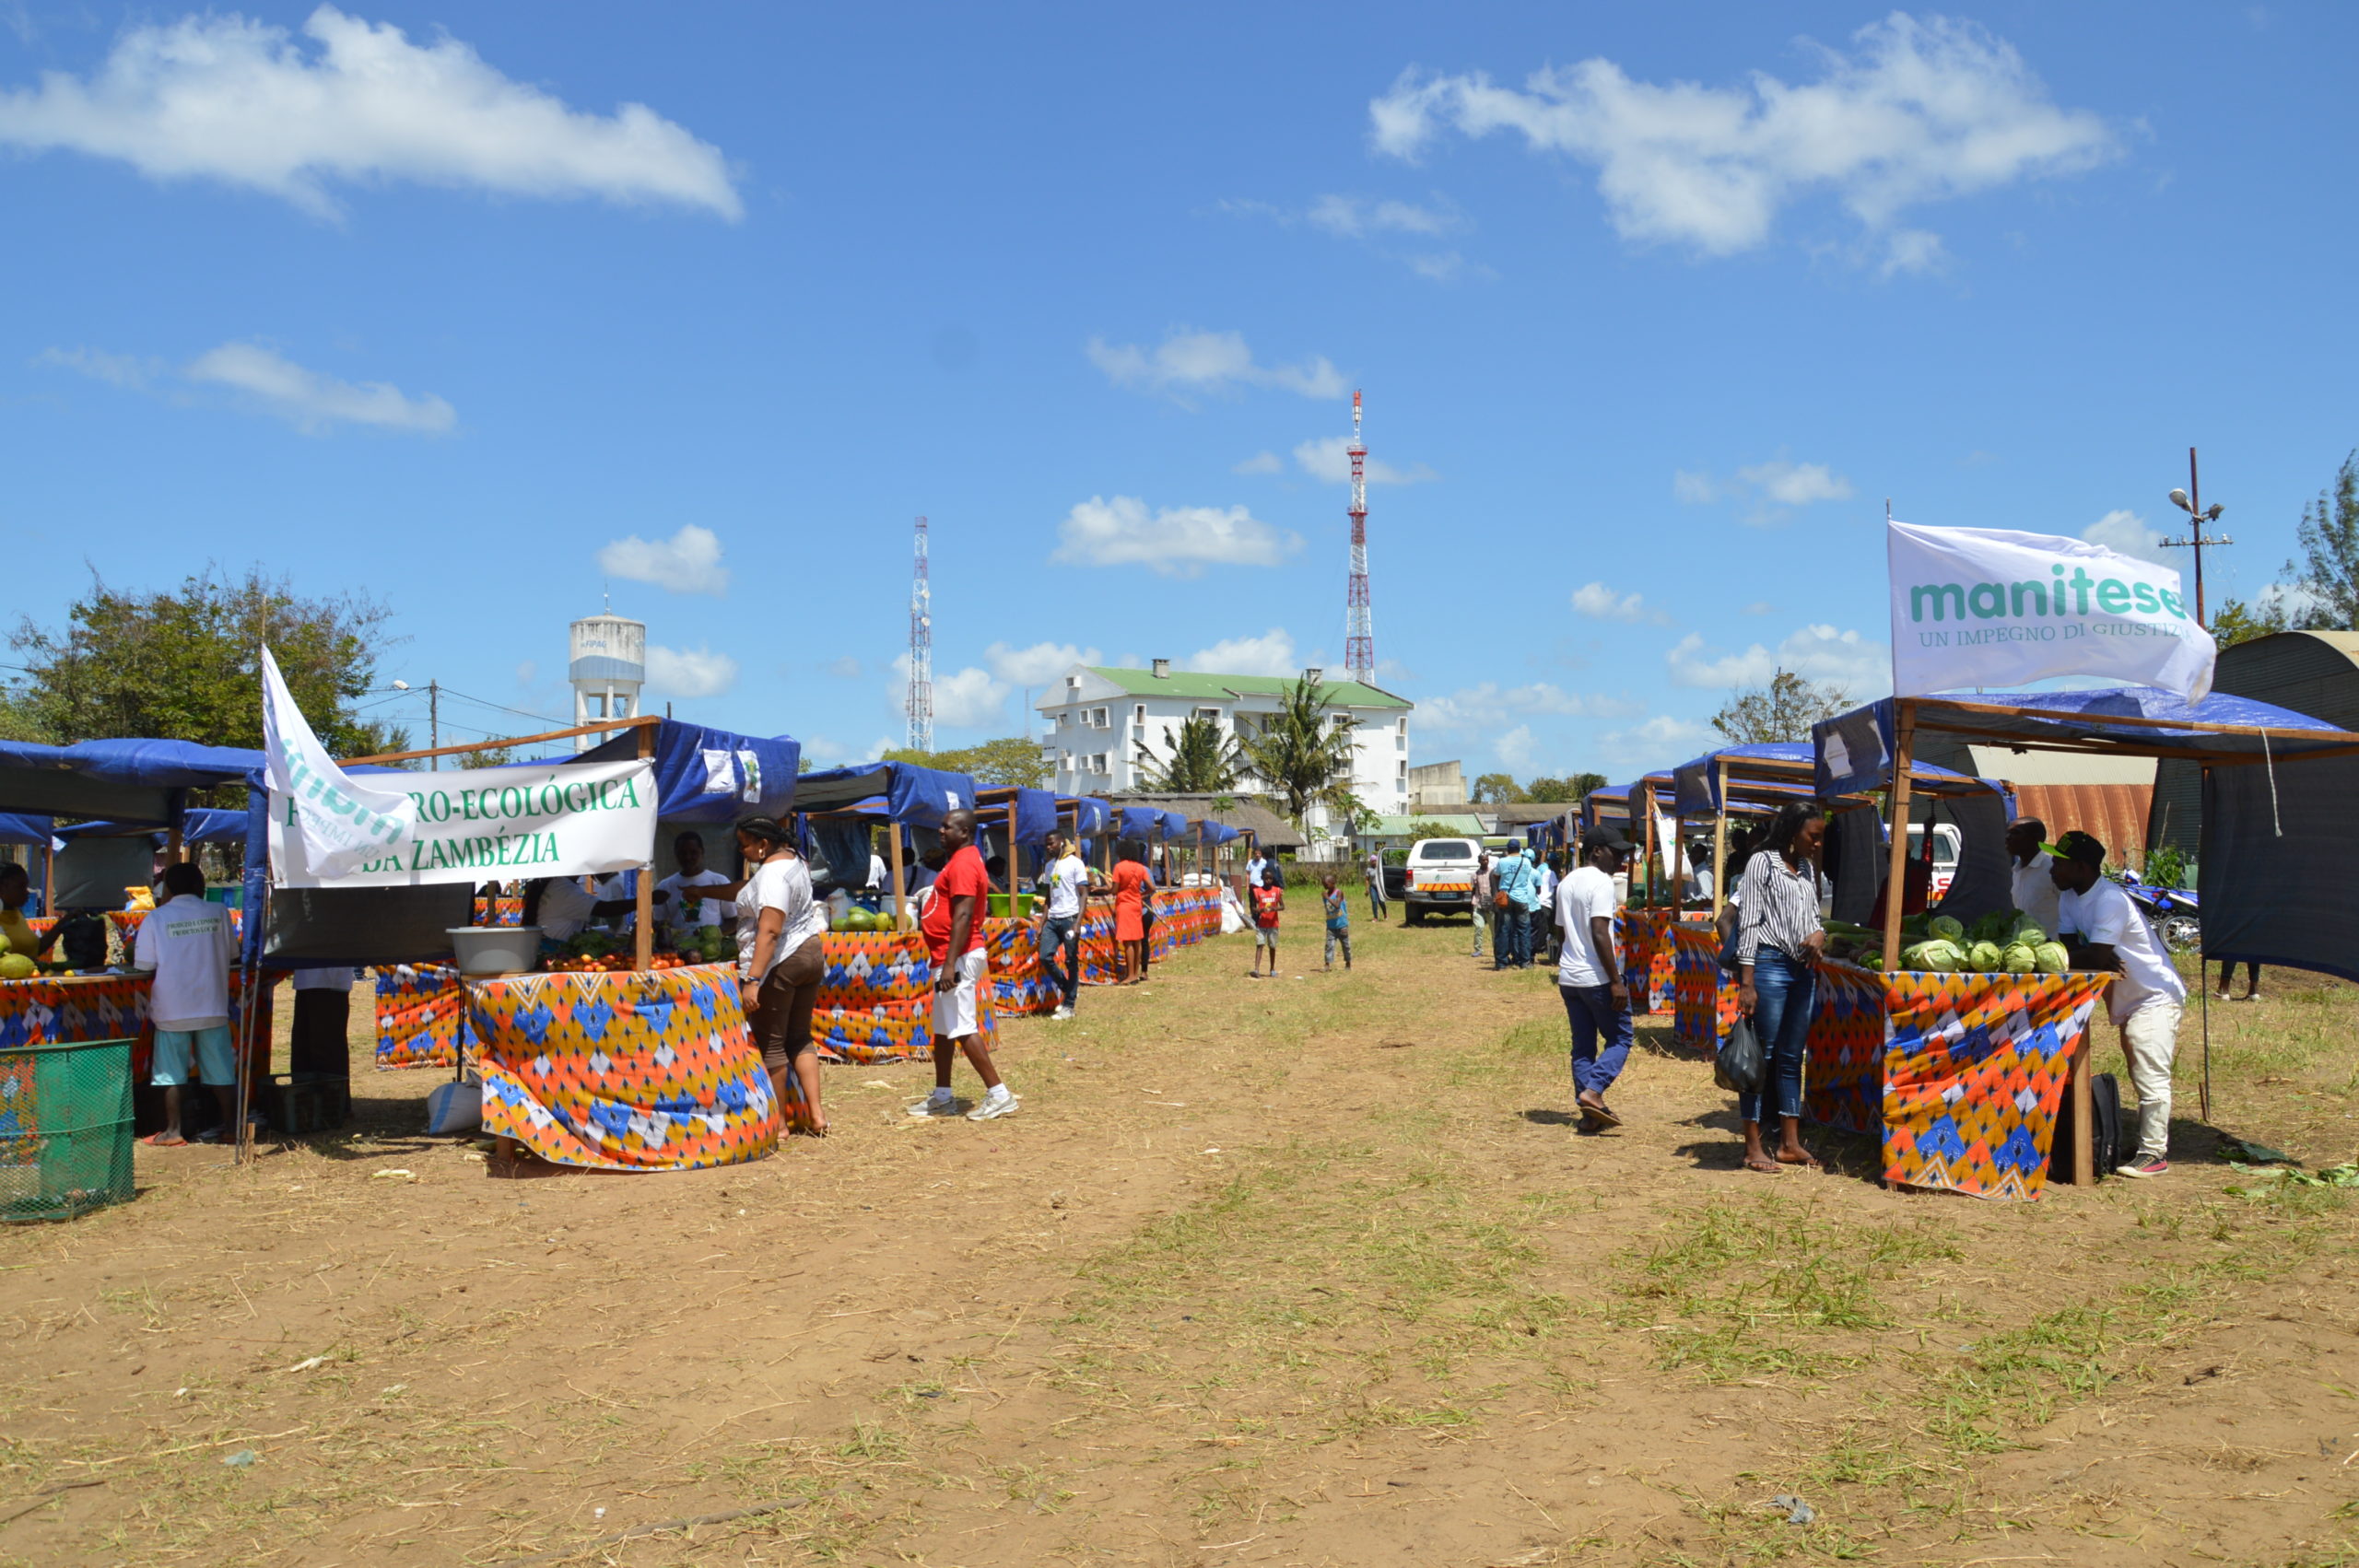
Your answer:
[[[1826,809],[1788,802],[1769,828],[1769,842],[1746,863],[1736,920],[1736,1004],[1753,1016],[1762,1042],[1760,1094],[1739,1094],[1746,1120],[1746,1167],[1776,1172],[1781,1165],[1819,1165],[1802,1148],[1802,1040],[1816,1004],[1812,964],[1826,950],[1819,924],[1819,842]],[[1776,1153],[1762,1148],[1765,1101],[1776,1101],[1781,1137]]]

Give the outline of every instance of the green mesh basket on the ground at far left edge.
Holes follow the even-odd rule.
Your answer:
[[[132,1191],[132,1042],[0,1049],[0,1219],[71,1219]]]

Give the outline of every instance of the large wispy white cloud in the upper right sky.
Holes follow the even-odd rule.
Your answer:
[[[1609,59],[1540,68],[1522,92],[1484,73],[1408,71],[1368,104],[1371,137],[1415,160],[1446,130],[1519,132],[1536,153],[1597,170],[1623,238],[1703,255],[1767,243],[1783,207],[1821,191],[1882,233],[1908,207],[2118,153],[2100,116],[2057,108],[2015,47],[1970,21],[1894,12],[1852,45],[1816,47],[1819,80],[1802,85],[1760,71],[1746,87],[1637,83]],[[1930,252],[1911,238],[1887,257]]]

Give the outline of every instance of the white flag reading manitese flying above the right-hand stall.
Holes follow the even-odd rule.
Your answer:
[[[2088,540],[1892,523],[1892,696],[2012,691],[2052,674],[2210,691],[2210,632],[2180,573]]]

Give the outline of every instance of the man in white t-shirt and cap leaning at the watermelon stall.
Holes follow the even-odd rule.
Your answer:
[[[2180,1049],[2180,1014],[2187,983],[2147,917],[2118,882],[2100,875],[2104,844],[2085,832],[2057,839],[2048,868],[2057,887],[2057,927],[2074,969],[2111,969],[2107,1012],[2121,1028],[2121,1054],[2130,1059],[2137,1089],[2137,1153],[2118,1165],[2123,1177],[2161,1177],[2170,1170],[2170,1059]]]

